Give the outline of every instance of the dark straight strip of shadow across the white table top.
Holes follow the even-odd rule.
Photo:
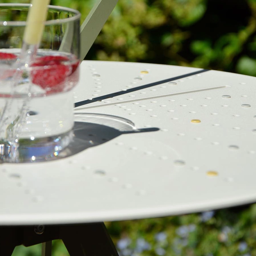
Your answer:
[[[96,97],[96,98],[93,98],[93,99],[87,99],[87,100],[84,100],[84,101],[79,101],[79,102],[75,103],[75,107],[80,107],[80,106],[87,105],[87,104],[90,104],[90,103],[93,103],[93,102],[96,102],[96,101],[102,101],[103,99],[113,98],[115,96],[120,96],[120,95],[131,93],[131,92],[134,92],[134,91],[139,91],[141,89],[146,89],[146,88],[149,88],[149,87],[152,87],[152,86],[155,86],[155,85],[161,85],[163,83],[167,83],[167,82],[171,82],[171,81],[178,80],[178,79],[181,79],[181,78],[189,77],[191,75],[197,75],[197,74],[200,74],[200,73],[203,73],[203,72],[206,72],[206,71],[209,71],[209,69],[201,69],[199,71],[195,71],[195,72],[192,72],[192,73],[187,73],[187,74],[184,74],[184,75],[179,75],[177,77],[172,77],[172,78],[164,79],[164,80],[153,82],[153,83],[148,83],[146,85],[141,85],[141,86],[137,86],[137,87],[134,87],[134,88],[130,88],[130,89],[127,89],[126,91],[117,91],[115,93],[102,95],[102,96],[99,96],[99,97]]]

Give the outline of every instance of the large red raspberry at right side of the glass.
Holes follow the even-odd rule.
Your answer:
[[[71,74],[71,68],[64,65],[63,61],[68,61],[63,56],[44,56],[38,58],[31,67],[32,82],[41,86],[47,93],[57,93],[63,91],[64,81]],[[36,67],[39,67],[38,69]],[[72,68],[73,69],[73,68]]]

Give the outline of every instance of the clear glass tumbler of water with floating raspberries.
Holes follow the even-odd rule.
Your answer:
[[[41,43],[34,52],[28,47],[24,55],[29,8],[29,4],[0,4],[2,162],[56,159],[73,136],[80,13],[49,6]]]

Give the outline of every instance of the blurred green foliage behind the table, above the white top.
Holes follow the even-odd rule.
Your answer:
[[[78,9],[82,20],[94,2],[51,0],[53,5]],[[255,76],[256,1],[119,0],[86,59],[193,66]]]

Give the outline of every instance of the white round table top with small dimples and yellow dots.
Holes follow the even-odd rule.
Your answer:
[[[255,202],[255,77],[83,61],[74,100],[77,121],[114,133],[106,129],[93,145],[90,130],[91,146],[67,158],[1,164],[0,225],[161,217]]]

